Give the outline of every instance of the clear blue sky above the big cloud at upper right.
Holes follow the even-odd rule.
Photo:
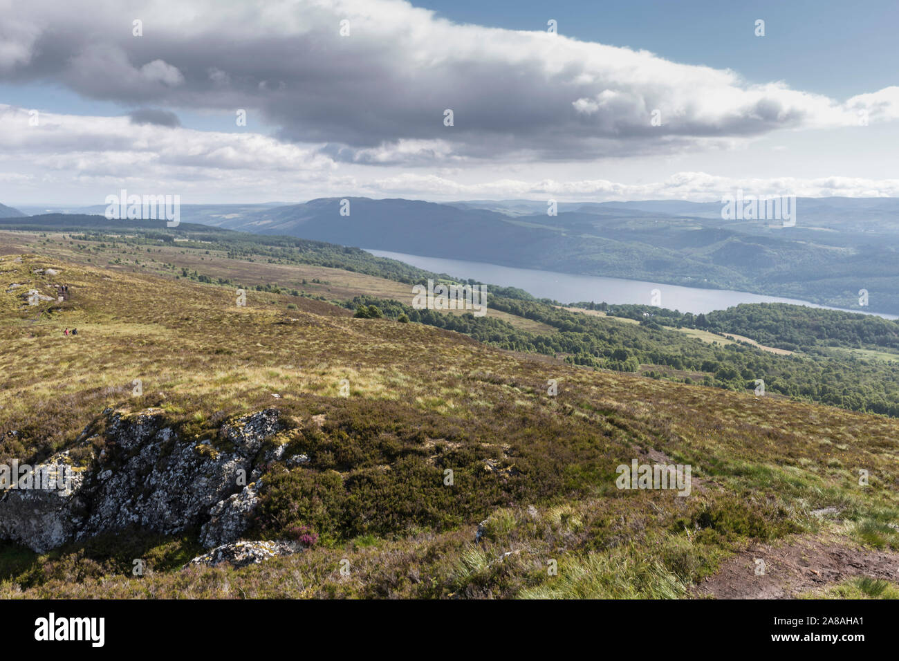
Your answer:
[[[899,3],[828,0],[421,0],[452,21],[536,30],[547,18],[585,41],[651,50],[687,64],[733,68],[752,82],[851,96],[899,78]],[[753,34],[765,21],[764,39]]]

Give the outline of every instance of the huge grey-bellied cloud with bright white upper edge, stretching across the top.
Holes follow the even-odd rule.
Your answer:
[[[0,79],[49,80],[125,104],[252,108],[281,139],[327,143],[356,163],[671,155],[775,130],[856,126],[859,111],[899,119],[899,87],[841,102],[542,26],[460,25],[400,0],[31,0],[14,14],[0,28]],[[145,37],[132,36],[135,17]],[[443,125],[446,108],[453,127]],[[661,126],[651,125],[654,111]]]

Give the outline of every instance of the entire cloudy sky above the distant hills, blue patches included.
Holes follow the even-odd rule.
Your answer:
[[[0,0],[0,202],[899,196],[897,19],[895,0]]]

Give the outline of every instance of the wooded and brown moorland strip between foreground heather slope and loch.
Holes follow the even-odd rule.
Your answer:
[[[353,311],[374,305],[387,317],[405,314],[416,322],[464,333],[499,348],[541,353],[592,369],[636,371],[655,379],[742,392],[753,392],[756,380],[761,379],[770,397],[899,415],[899,383],[894,378],[899,350],[881,342],[895,333],[895,321],[832,310],[809,313],[808,308],[756,305],[722,312],[724,317],[733,316],[732,322],[710,326],[705,316],[650,306],[579,304],[608,310],[591,316],[490,283],[489,315],[472,317],[457,310],[448,316],[412,309],[411,285],[429,278],[450,283],[458,280],[358,248],[225,229],[207,231],[187,223],[173,232],[133,225],[125,232],[119,221],[82,218],[90,224],[74,235],[58,231],[0,233],[0,252],[40,252],[120,272],[289,293]],[[65,220],[42,217],[33,226],[22,226],[18,220],[13,223],[47,230]],[[797,314],[772,317],[781,309],[793,308]],[[812,330],[804,325],[806,318],[814,319]],[[758,348],[753,335],[763,336],[761,331],[771,323],[780,336],[805,337],[811,344],[797,351]],[[872,327],[877,333],[872,333]],[[840,328],[840,335],[853,339],[837,342],[818,332],[822,328]]]

